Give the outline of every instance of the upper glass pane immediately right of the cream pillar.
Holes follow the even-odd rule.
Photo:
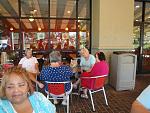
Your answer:
[[[142,2],[134,4],[134,21],[142,21]]]

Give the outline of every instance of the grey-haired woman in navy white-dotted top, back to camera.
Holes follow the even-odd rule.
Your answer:
[[[40,73],[40,80],[49,82],[65,82],[70,81],[70,77],[73,75],[71,68],[67,65],[62,65],[61,54],[59,51],[53,51],[49,54],[50,64],[43,66]],[[65,84],[65,90],[67,94],[71,93],[71,83]],[[47,90],[47,87],[46,87]],[[52,95],[54,98],[58,95]],[[54,99],[54,104],[57,104],[57,100]],[[67,102],[63,100],[63,105],[67,105]]]

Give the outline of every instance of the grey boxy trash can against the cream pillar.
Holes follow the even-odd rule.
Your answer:
[[[137,55],[117,53],[111,55],[110,85],[117,91],[133,90],[135,87]]]

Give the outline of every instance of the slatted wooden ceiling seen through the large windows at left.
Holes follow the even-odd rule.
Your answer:
[[[78,22],[80,29],[86,30],[90,19],[90,0],[77,1],[78,9],[76,0],[19,0],[20,5],[18,0],[0,0],[0,27],[18,30],[20,21],[21,29],[25,31],[38,28],[47,31],[49,27],[54,31],[63,31],[66,27],[74,31]],[[29,18],[34,18],[34,21]]]

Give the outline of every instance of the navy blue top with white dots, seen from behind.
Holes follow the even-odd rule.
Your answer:
[[[67,65],[62,65],[59,67],[43,66],[40,73],[40,80],[49,82],[65,82],[70,81],[71,76],[73,76],[73,72],[71,68]],[[65,90],[69,91],[70,89],[71,84],[65,84]]]

